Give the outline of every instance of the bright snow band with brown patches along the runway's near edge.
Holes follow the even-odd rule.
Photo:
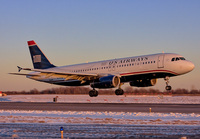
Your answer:
[[[0,123],[200,125],[200,114],[0,110]]]

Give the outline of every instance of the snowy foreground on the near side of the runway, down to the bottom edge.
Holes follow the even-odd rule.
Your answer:
[[[200,138],[200,114],[0,110],[0,138]]]

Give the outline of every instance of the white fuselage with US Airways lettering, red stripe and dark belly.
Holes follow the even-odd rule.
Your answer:
[[[173,53],[159,53],[152,55],[144,55],[137,57],[111,59],[105,61],[83,63],[76,65],[68,65],[54,67],[49,71],[67,71],[74,73],[94,73],[100,77],[108,75],[120,76],[121,83],[133,80],[165,78],[166,76],[178,76],[188,73],[194,69],[194,64],[188,60],[181,60],[183,56]],[[172,61],[173,58],[179,60]],[[39,74],[40,76],[27,76],[28,78],[38,81],[49,82],[66,86],[89,85],[90,82],[81,83],[73,78],[66,79],[63,77],[55,77],[54,75],[46,75],[40,72],[32,72],[31,74]]]

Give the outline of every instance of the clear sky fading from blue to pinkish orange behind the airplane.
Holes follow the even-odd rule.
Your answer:
[[[0,0],[0,90],[59,87],[8,74],[33,67],[28,40],[57,66],[178,53],[195,69],[170,85],[199,90],[199,13],[199,0]],[[153,88],[164,90],[164,80]]]

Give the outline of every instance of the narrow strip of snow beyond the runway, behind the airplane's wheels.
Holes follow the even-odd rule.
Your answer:
[[[8,102],[52,102],[58,96],[58,102],[66,103],[173,103],[173,104],[200,104],[200,96],[147,96],[147,95],[8,95],[0,97],[0,101]]]

